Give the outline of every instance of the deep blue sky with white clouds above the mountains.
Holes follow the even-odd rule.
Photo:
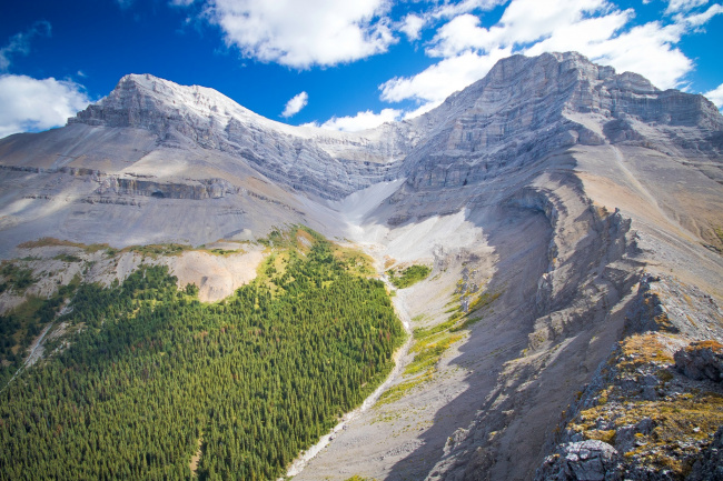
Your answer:
[[[0,137],[65,124],[126,73],[345,130],[413,117],[512,53],[577,50],[723,106],[709,0],[3,0]]]

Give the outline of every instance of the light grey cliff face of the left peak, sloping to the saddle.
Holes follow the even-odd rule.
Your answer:
[[[69,123],[143,129],[171,148],[190,141],[242,159],[269,179],[326,198],[395,178],[398,168],[389,163],[398,160],[404,143],[394,131],[375,142],[290,128],[261,118],[215,90],[181,87],[148,74],[123,77],[108,97]]]

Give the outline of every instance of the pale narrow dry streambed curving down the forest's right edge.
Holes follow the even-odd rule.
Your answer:
[[[389,288],[389,292],[397,291],[397,289],[392,285],[389,280],[386,278],[386,275],[383,275],[384,283]],[[406,364],[403,362],[405,359],[407,352],[409,351],[409,347],[412,345],[412,318],[409,317],[409,311],[407,310],[407,305],[405,302],[405,297],[404,294],[400,294],[399,291],[397,291],[397,294],[392,298],[392,304],[394,305],[394,310],[402,321],[402,324],[404,325],[404,330],[407,332],[407,340],[399,348],[395,353],[394,353],[394,369],[392,372],[389,372],[389,375],[387,375],[387,379],[372,393],[367,397],[367,399],[364,400],[361,405],[359,405],[357,409],[354,411],[349,411],[344,417],[341,417],[341,420],[329,431],[328,434],[323,435],[319,441],[307,449],[306,451],[303,451],[299,457],[291,463],[289,469],[286,471],[286,478],[295,477],[299,474],[304,468],[308,464],[309,461],[311,461],[319,452],[324,450],[335,438],[336,434],[346,429],[347,424],[358,418],[361,413],[367,411],[369,408],[372,408],[379,397],[386,391],[392,382],[397,378],[397,375],[404,370]],[[284,478],[279,478],[277,481],[281,481]]]

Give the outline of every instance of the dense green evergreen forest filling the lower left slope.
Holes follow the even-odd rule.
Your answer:
[[[161,267],[75,287],[55,322],[78,333],[0,392],[0,479],[284,475],[384,380],[405,337],[380,281],[298,232],[310,241],[277,248],[214,304]]]

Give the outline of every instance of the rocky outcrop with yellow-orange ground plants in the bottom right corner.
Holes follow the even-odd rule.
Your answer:
[[[555,475],[576,467],[559,452],[593,440],[617,453],[605,472],[611,479],[714,479],[709,477],[717,469],[723,422],[720,344],[685,344],[686,338],[658,331],[621,341],[570,408],[556,440],[558,454],[546,458],[536,479],[587,479]]]

